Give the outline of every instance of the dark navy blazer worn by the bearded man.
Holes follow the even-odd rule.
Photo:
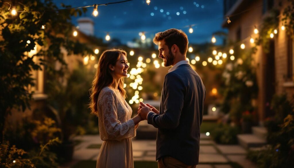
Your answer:
[[[190,65],[166,74],[159,114],[150,112],[148,124],[158,128],[156,160],[171,156],[187,165],[199,162],[200,125],[206,90]]]

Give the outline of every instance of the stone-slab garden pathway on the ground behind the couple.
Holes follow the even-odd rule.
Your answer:
[[[200,136],[200,156],[197,168],[232,168],[228,162],[237,162],[243,168],[254,168],[255,165],[246,159],[246,150],[239,145],[218,145],[209,136]],[[98,148],[87,148],[92,144],[102,144],[99,135],[78,136],[76,140],[81,141],[75,147],[73,162],[63,167],[71,167],[80,160],[96,161]],[[156,142],[155,140],[133,139],[133,157],[135,161],[155,161]]]

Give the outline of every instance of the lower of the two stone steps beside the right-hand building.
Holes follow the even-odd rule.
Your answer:
[[[254,134],[239,134],[237,137],[239,144],[246,149],[250,147],[261,147],[266,144],[265,139]]]

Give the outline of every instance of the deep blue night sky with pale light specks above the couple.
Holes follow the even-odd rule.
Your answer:
[[[87,6],[116,2],[121,0],[55,0],[72,7]],[[99,15],[92,16],[93,7],[86,14],[94,21],[94,34],[105,39],[106,32],[111,38],[120,39],[123,44],[140,38],[139,32],[145,31],[146,39],[152,39],[154,34],[170,28],[182,29],[188,35],[189,43],[205,43],[211,41],[213,32],[223,31],[223,0],[133,0],[121,4],[98,6]],[[179,15],[177,15],[177,12]],[[78,17],[73,17],[77,25]],[[189,25],[193,33],[188,32]],[[150,40],[149,39],[149,40]]]

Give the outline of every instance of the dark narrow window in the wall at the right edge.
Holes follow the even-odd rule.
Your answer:
[[[294,43],[291,37],[288,37],[287,41],[287,77],[290,80],[293,80],[293,53]]]

